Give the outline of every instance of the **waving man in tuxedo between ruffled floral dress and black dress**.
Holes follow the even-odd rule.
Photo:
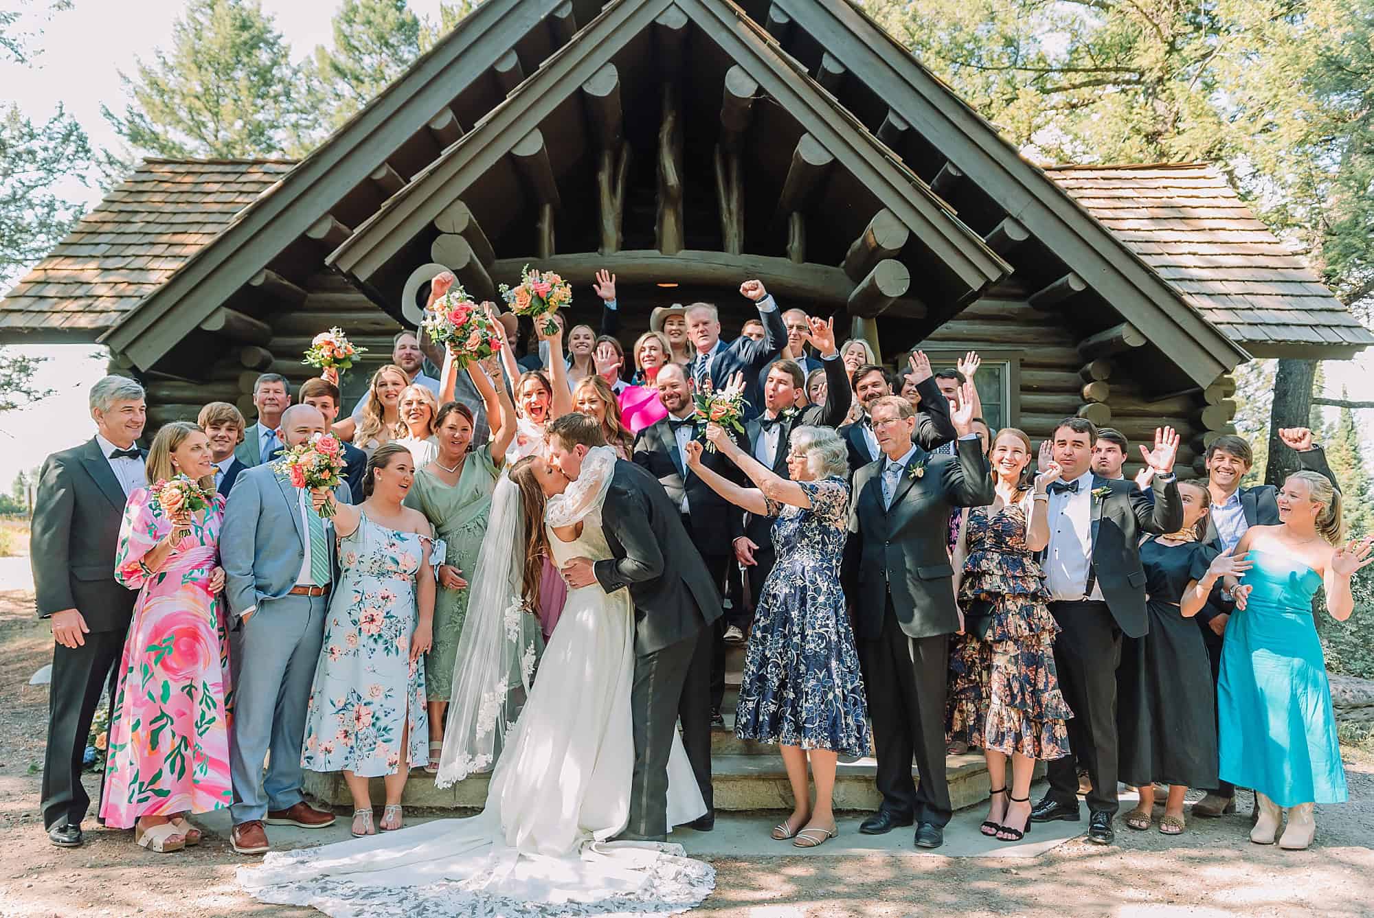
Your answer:
[[[1062,477],[1037,497],[1050,503],[1044,573],[1050,613],[1061,629],[1054,662],[1063,699],[1073,710],[1070,741],[1079,752],[1050,763],[1050,792],[1030,811],[1030,820],[1077,822],[1077,759],[1087,764],[1092,781],[1088,841],[1109,845],[1116,838],[1112,816],[1117,811],[1116,669],[1121,636],[1140,638],[1149,631],[1140,539],[1178,532],[1183,503],[1173,477],[1179,437],[1171,427],[1156,434],[1153,451],[1140,447],[1154,470],[1154,500],[1134,481],[1092,473],[1096,438],[1092,422],[1061,421],[1051,452]]]

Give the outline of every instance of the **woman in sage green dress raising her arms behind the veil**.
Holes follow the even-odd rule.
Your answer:
[[[429,708],[430,763],[438,771],[444,748],[444,721],[453,691],[453,657],[467,617],[467,581],[486,535],[486,513],[500,474],[506,449],[515,437],[515,405],[504,385],[496,386],[481,364],[467,364],[467,375],[486,408],[492,440],[473,443],[473,412],[453,401],[458,368],[452,357],[444,361],[444,407],[434,416],[438,455],[415,473],[405,506],[423,513],[437,537],[448,544],[444,563],[437,568],[438,596],[434,601],[434,646],[425,657],[425,688]]]

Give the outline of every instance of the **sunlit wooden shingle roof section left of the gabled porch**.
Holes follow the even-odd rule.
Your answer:
[[[93,339],[295,166],[144,159],[0,300],[0,330]]]

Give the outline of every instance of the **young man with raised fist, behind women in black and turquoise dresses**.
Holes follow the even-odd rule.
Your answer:
[[[1326,463],[1326,452],[1312,441],[1307,427],[1283,427],[1279,440],[1297,454],[1298,469],[1316,471],[1330,478],[1340,491],[1340,484]],[[1279,522],[1278,488],[1254,485],[1242,488],[1241,481],[1250,471],[1254,455],[1243,437],[1224,434],[1206,448],[1208,492],[1212,496],[1212,510],[1206,517],[1206,541],[1219,550],[1235,548],[1241,536],[1250,526],[1274,526]],[[1227,596],[1220,602],[1209,602],[1197,614],[1202,640],[1212,660],[1212,680],[1221,675],[1221,640],[1226,623],[1231,618],[1234,605]],[[1221,816],[1235,812],[1235,786],[1220,781],[1217,787],[1204,787],[1206,796],[1193,804],[1198,816]]]

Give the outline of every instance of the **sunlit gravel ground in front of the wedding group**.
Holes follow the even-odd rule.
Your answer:
[[[51,638],[33,620],[32,599],[0,591],[0,917],[315,915],[240,895],[234,869],[246,859],[217,833],[207,833],[199,848],[154,855],[136,848],[128,833],[88,819],[84,848],[47,844],[38,814],[47,690],[26,683],[49,658]],[[1249,819],[1239,815],[1194,819],[1180,838],[1131,831],[1118,820],[1114,847],[1069,841],[1024,862],[827,858],[824,849],[717,858],[716,893],[692,914],[1374,915],[1374,754],[1348,749],[1345,765],[1351,801],[1318,812],[1318,844],[1305,852],[1249,844]]]

